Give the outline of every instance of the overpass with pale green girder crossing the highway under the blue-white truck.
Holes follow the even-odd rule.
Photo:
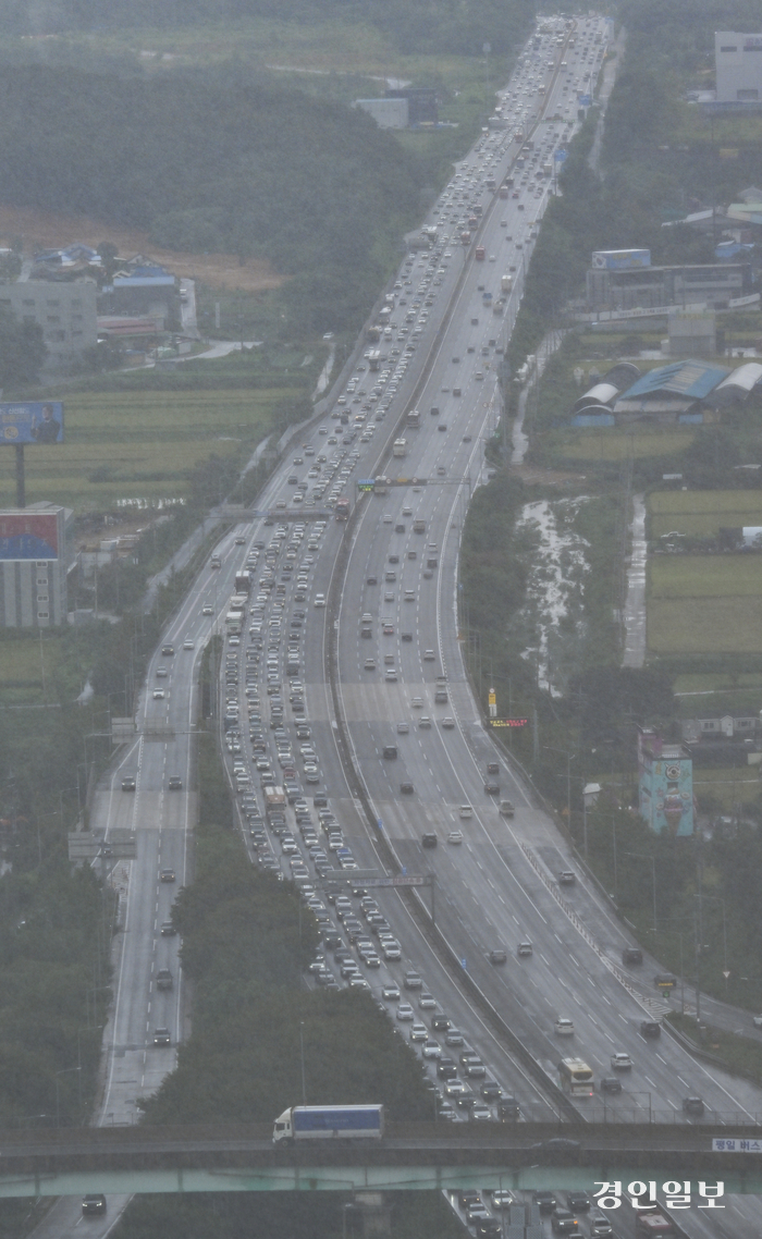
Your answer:
[[[390,1124],[379,1141],[273,1147],[271,1124],[0,1131],[0,1197],[181,1192],[593,1189],[621,1180],[762,1193],[762,1127]],[[725,1152],[712,1140],[748,1151]],[[760,1152],[756,1152],[758,1149]]]

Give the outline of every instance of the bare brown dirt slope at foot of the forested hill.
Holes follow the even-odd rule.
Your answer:
[[[22,238],[25,254],[71,245],[73,242],[95,247],[102,240],[110,240],[118,245],[120,258],[146,254],[175,275],[203,280],[218,289],[258,292],[282,284],[282,276],[258,259],[249,259],[242,266],[235,254],[188,254],[159,249],[150,243],[147,233],[104,224],[89,216],[62,216],[32,207],[0,204],[0,245],[7,245],[16,237]]]

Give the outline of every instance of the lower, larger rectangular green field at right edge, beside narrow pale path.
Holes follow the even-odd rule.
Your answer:
[[[762,559],[664,555],[648,574],[648,648],[654,654],[762,650]]]

